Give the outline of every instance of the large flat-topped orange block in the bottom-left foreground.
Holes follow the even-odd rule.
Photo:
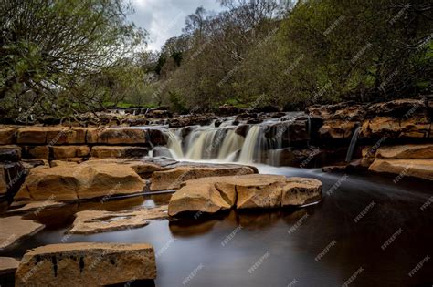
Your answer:
[[[51,244],[27,251],[16,286],[100,286],[156,278],[150,244]]]

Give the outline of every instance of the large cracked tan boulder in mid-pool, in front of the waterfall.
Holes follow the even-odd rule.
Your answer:
[[[187,180],[172,196],[168,213],[301,206],[322,199],[317,179],[249,174]]]

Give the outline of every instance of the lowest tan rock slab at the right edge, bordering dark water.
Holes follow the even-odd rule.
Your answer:
[[[433,180],[433,159],[375,159],[368,170]]]

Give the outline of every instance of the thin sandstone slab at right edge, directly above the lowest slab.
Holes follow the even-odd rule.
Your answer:
[[[377,158],[386,159],[433,159],[433,145],[401,145],[380,147],[377,149]]]

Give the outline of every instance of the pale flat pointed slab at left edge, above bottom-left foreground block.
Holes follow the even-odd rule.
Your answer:
[[[0,250],[6,249],[25,236],[41,231],[45,225],[20,216],[0,218]]]

